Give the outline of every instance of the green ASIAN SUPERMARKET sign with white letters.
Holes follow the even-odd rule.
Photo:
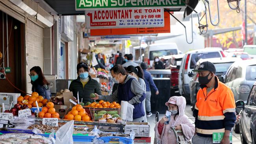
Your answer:
[[[182,0],[76,0],[76,11],[108,8],[182,7]]]

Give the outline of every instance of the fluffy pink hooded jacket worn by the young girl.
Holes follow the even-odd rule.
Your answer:
[[[173,124],[175,123],[174,127],[181,126],[182,133],[178,133],[178,135],[184,135],[187,140],[190,140],[194,136],[195,125],[192,124],[192,122],[185,115],[186,99],[183,96],[172,96],[166,105],[168,105],[171,101],[176,101],[176,105],[179,109],[179,115],[175,117],[176,120],[174,120],[174,116],[171,116]],[[164,124],[161,135],[158,131],[158,124],[160,124],[160,121],[155,126],[155,136],[160,141],[160,144],[176,144],[176,137],[171,130],[171,120],[169,124]],[[171,133],[169,133],[169,130],[171,130]]]

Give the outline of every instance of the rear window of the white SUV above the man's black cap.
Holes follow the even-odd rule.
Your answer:
[[[191,60],[190,60],[190,69],[194,69],[199,59],[210,59],[215,57],[221,57],[219,52],[206,52],[206,53],[192,54]]]

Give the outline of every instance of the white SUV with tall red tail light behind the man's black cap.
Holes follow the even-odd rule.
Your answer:
[[[190,103],[189,81],[193,75],[192,70],[195,68],[199,59],[209,59],[215,57],[225,57],[222,48],[204,48],[187,52],[182,58],[179,70],[179,92]],[[189,77],[190,76],[190,77]]]

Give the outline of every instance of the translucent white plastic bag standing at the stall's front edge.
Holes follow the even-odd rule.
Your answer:
[[[56,144],[73,144],[74,120],[61,126],[56,132]]]

